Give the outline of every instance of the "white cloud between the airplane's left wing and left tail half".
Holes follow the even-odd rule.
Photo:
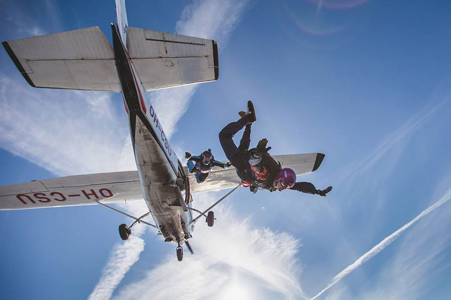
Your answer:
[[[0,146],[11,153],[57,175],[136,169],[112,95],[32,89],[5,74],[0,95]]]

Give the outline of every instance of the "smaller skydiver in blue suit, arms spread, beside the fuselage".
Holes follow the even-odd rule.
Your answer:
[[[232,165],[230,162],[222,163],[214,160],[211,149],[203,151],[199,156],[192,156],[191,153],[185,152],[185,158],[188,160],[186,165],[188,166],[189,173],[195,173],[194,176],[196,177],[197,183],[204,182],[213,167],[225,169]]]

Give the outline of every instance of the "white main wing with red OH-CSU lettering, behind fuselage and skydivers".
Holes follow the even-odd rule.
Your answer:
[[[324,154],[274,155],[283,167],[297,175],[315,171]],[[189,176],[191,193],[233,188],[240,183],[235,168],[214,168],[205,182],[198,184]],[[126,202],[142,199],[137,171],[74,175],[21,184],[0,186],[0,210],[76,206]]]

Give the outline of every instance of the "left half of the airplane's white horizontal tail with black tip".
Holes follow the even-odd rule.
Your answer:
[[[113,49],[98,27],[3,42],[3,46],[32,87],[121,91]]]

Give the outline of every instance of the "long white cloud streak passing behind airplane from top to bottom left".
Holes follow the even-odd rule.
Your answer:
[[[184,9],[181,20],[177,23],[176,31],[178,34],[206,39],[217,39],[216,36],[220,36],[223,42],[222,47],[224,47],[231,31],[243,13],[245,5],[246,1],[235,0],[196,1]],[[208,30],[205,31],[205,29]],[[155,111],[159,113],[160,122],[169,138],[175,132],[178,120],[186,112],[196,88],[197,86],[191,85],[150,93]],[[135,248],[132,255],[139,257],[142,250],[143,248]],[[113,252],[116,251],[113,250]],[[120,268],[117,262],[110,257],[102,278],[91,296],[94,297],[95,295],[95,297],[108,299],[120,282],[119,278],[122,279],[128,269]],[[110,277],[105,275],[106,273],[109,273],[110,277],[114,277],[114,280],[110,280]],[[156,288],[162,290],[162,286],[156,286]]]

